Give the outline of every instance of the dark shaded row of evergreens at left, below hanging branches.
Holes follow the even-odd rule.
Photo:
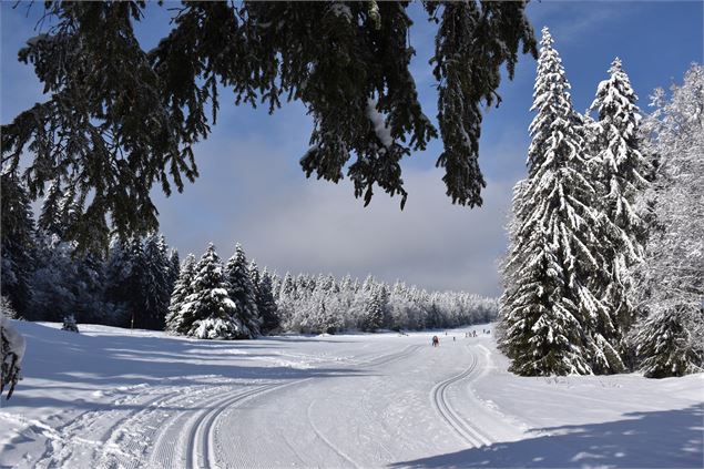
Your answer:
[[[106,253],[67,241],[79,211],[71,187],[50,185],[37,222],[23,184],[2,173],[2,295],[19,316],[160,329],[178,277],[163,236],[113,239]]]

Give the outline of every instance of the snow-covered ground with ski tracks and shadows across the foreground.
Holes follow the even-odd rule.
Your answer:
[[[433,348],[430,333],[207,341],[14,324],[28,351],[0,467],[704,463],[703,375],[520,378],[489,326]]]

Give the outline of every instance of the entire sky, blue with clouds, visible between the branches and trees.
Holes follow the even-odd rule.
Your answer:
[[[18,49],[37,34],[41,9],[34,4],[28,13],[27,3],[16,9],[13,3],[0,4],[2,123],[42,99],[32,69],[17,61]],[[703,4],[533,1],[528,14],[538,34],[543,26],[551,29],[579,111],[589,106],[616,55],[647,111],[654,88],[681,81],[692,62],[702,62]],[[424,110],[435,120],[437,95],[427,64],[435,27],[419,4],[410,11],[418,52],[412,72]],[[167,31],[169,14],[150,7],[147,21],[137,27],[145,47]],[[511,187],[526,173],[534,73],[535,61],[521,57],[514,80],[504,79],[499,89],[501,106],[486,114],[480,165],[488,187],[481,208],[453,206],[445,196],[442,173],[435,169],[439,141],[402,163],[410,193],[404,212],[398,198],[380,191],[364,208],[347,181],[306,180],[300,171],[312,129],[303,105],[287,104],[269,116],[264,109],[231,105],[224,93],[217,125],[195,149],[201,177],[183,194],[166,198],[154,192],[162,231],[182,255],[200,255],[213,241],[228,257],[241,242],[249,257],[278,272],[371,273],[428,288],[496,295]]]

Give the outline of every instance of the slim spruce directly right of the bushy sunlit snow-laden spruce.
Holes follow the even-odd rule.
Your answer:
[[[246,326],[249,338],[261,335],[262,320],[256,305],[256,292],[249,277],[247,257],[239,243],[225,265],[225,278],[228,284],[227,293],[237,305],[237,318]]]

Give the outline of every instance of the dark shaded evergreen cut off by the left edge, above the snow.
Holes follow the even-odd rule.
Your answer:
[[[12,307],[25,316],[31,299],[29,276],[33,269],[34,218],[27,190],[16,172],[3,171],[0,175],[0,288]]]

